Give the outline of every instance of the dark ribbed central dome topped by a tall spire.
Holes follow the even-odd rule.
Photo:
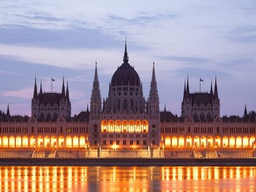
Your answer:
[[[140,86],[140,77],[135,69],[128,63],[129,57],[127,55],[127,48],[124,50],[124,63],[118,67],[112,76],[111,85],[132,85]]]

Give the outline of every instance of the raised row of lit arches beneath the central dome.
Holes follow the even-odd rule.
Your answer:
[[[149,123],[146,120],[103,120],[101,132],[148,132]]]

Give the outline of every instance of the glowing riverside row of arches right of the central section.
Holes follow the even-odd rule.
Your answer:
[[[163,138],[162,138],[163,141]],[[255,137],[165,137],[165,148],[252,148]]]

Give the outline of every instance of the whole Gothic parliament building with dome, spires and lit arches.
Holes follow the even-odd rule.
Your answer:
[[[43,92],[42,84],[38,91],[35,79],[31,116],[10,116],[9,105],[0,112],[0,157],[255,156],[255,112],[220,116],[216,78],[210,93],[191,93],[187,78],[181,116],[160,110],[154,63],[149,86],[145,99],[126,45],[103,101],[96,63],[90,108],[78,115],[71,116],[64,78],[61,93]]]

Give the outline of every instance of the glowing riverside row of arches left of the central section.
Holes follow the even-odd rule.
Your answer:
[[[85,148],[87,138],[74,137],[0,137],[1,148]]]

